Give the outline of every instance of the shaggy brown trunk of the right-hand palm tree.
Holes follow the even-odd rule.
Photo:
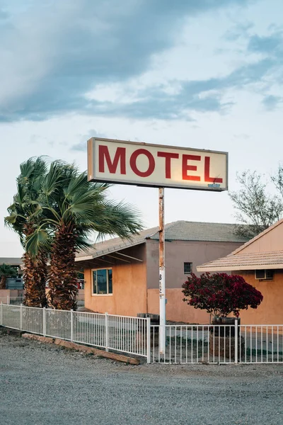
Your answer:
[[[77,273],[75,268],[76,234],[73,227],[57,229],[52,244],[48,281],[50,305],[57,310],[76,310]]]

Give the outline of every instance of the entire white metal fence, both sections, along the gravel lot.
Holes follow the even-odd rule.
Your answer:
[[[150,318],[0,303],[4,327],[142,356],[148,363],[283,363],[283,324],[166,325]]]

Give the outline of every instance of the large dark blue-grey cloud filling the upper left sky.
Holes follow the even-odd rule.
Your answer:
[[[0,120],[99,113],[106,105],[88,104],[84,97],[94,86],[144,73],[153,55],[172,47],[187,17],[247,3],[31,0],[17,12],[10,10],[8,26],[0,27],[0,62],[5,64],[0,69]],[[156,106],[160,103],[157,99]],[[196,101],[196,107],[206,110],[205,103],[209,110],[218,106],[217,99],[210,98]],[[143,106],[137,115],[143,115]],[[158,116],[158,111],[154,115]],[[161,115],[169,117],[171,113]]]

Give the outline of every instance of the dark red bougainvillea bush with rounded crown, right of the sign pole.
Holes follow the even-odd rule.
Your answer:
[[[182,287],[183,301],[216,317],[230,313],[239,317],[240,310],[257,308],[263,299],[260,291],[246,283],[242,276],[226,273],[204,273],[200,278],[192,273]]]

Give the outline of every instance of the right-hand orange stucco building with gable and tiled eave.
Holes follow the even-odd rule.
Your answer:
[[[200,273],[231,271],[260,290],[263,301],[256,310],[241,311],[243,324],[283,323],[283,220],[228,256],[204,263],[197,270]]]

